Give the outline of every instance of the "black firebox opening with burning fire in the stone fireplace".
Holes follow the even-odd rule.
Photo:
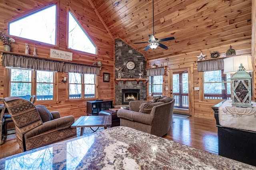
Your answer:
[[[134,100],[140,100],[140,89],[122,89],[122,104],[128,105]]]

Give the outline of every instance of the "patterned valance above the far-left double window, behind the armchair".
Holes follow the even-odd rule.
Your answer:
[[[63,62],[3,53],[3,66],[62,72]]]

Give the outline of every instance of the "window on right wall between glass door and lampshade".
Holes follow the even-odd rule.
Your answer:
[[[231,99],[230,74],[223,70],[204,72],[205,99]]]

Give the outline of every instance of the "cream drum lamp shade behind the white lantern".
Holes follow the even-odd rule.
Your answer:
[[[238,55],[223,59],[224,61],[224,74],[234,74],[239,69],[240,64],[243,64],[246,72],[252,72],[252,56],[251,55]]]

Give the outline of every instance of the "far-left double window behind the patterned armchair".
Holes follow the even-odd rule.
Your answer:
[[[39,70],[10,69],[10,96],[19,96],[29,100],[54,99],[54,72]]]

